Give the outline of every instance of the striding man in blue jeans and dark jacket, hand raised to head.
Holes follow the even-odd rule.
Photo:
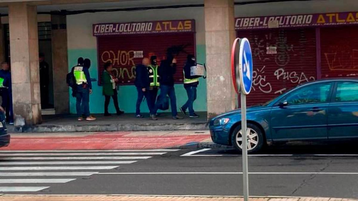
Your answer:
[[[174,78],[173,75],[176,72],[176,59],[172,55],[168,54],[166,59],[160,63],[158,70],[159,82],[160,82],[160,94],[157,103],[155,104],[150,117],[153,120],[157,120],[156,112],[158,108],[165,101],[166,95],[169,96],[170,106],[171,106],[171,115],[173,119],[183,119],[183,117],[178,116],[178,111],[176,109],[176,97],[174,90]]]

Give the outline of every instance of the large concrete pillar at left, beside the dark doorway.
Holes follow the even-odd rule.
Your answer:
[[[27,125],[39,124],[42,118],[36,6],[10,3],[9,26],[14,114],[23,117]]]

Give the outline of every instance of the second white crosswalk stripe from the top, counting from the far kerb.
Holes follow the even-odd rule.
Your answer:
[[[0,153],[2,156],[112,156],[112,155],[163,155],[167,152],[117,152],[117,153]]]

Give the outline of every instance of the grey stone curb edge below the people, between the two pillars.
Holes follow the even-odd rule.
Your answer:
[[[100,124],[100,125],[36,125],[14,127],[8,126],[8,132],[104,132],[104,131],[176,131],[205,130],[207,122],[201,123],[157,123],[157,124]]]

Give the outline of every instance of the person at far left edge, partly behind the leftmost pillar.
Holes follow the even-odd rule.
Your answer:
[[[8,122],[9,124],[14,124],[11,74],[9,64],[7,62],[1,63],[0,93],[3,101],[1,103],[1,107],[5,108],[6,122]]]

